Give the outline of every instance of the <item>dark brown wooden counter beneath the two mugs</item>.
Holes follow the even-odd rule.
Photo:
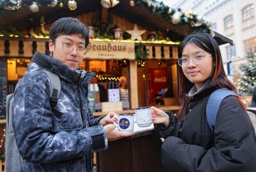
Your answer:
[[[97,172],[161,172],[162,141],[154,125],[139,127],[134,123],[134,136],[108,143],[108,150],[97,153]]]

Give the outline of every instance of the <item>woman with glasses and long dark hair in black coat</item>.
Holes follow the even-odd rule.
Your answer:
[[[244,104],[236,96],[221,101],[214,131],[205,114],[214,90],[234,90],[223,69],[218,43],[209,34],[187,36],[180,44],[180,104],[177,116],[152,107],[163,141],[161,157],[168,171],[256,170],[256,136]],[[165,140],[164,140],[165,139]]]

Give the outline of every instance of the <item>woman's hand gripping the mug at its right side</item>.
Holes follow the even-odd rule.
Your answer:
[[[159,110],[158,108],[152,106],[151,113],[153,124],[164,124],[164,127],[169,125],[169,116],[163,110]]]

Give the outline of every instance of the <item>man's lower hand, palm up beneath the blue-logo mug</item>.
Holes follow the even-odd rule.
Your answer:
[[[116,128],[115,124],[108,124],[104,126],[104,130],[107,134],[108,141],[115,141],[120,138],[126,138],[134,135],[134,133],[125,133],[122,131],[115,130],[115,128]]]

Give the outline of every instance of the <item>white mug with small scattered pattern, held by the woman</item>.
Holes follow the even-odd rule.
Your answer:
[[[135,109],[136,123],[139,127],[148,127],[152,124],[152,113],[150,107]]]

